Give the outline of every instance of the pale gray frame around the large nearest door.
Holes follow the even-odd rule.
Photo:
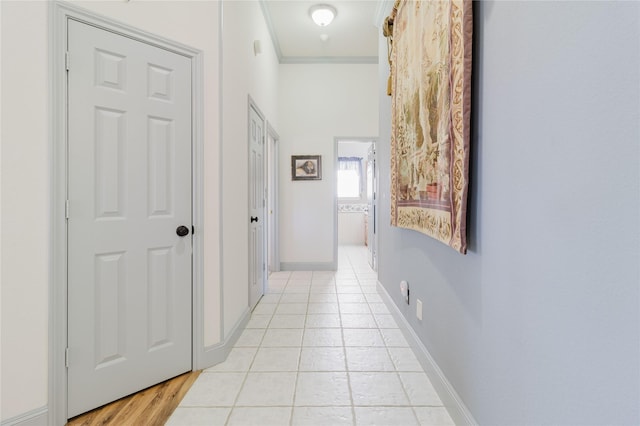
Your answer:
[[[51,173],[51,236],[49,261],[49,424],[67,421],[67,223],[68,191],[67,148],[67,23],[76,20],[136,41],[169,50],[191,60],[191,132],[192,132],[192,223],[195,229],[192,248],[192,369],[200,368],[204,354],[204,102],[202,51],[141,31],[130,25],[105,18],[65,2],[49,5],[49,134]]]

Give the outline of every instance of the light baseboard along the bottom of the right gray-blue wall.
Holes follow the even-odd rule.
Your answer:
[[[396,304],[393,303],[391,296],[389,296],[389,293],[387,293],[387,290],[379,281],[378,293],[396,319],[402,334],[404,334],[409,345],[411,345],[418,361],[422,365],[422,368],[424,368],[425,373],[427,373],[427,377],[429,377],[431,384],[433,384],[433,387],[455,424],[477,425],[478,422],[473,418],[473,415],[471,415],[471,412],[460,398],[460,395],[458,395],[449,380],[447,380],[447,377],[440,367],[438,367],[438,364],[436,364],[427,348],[422,344],[416,332],[411,328],[411,325],[407,322]]]

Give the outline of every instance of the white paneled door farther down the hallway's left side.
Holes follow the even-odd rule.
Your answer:
[[[265,172],[264,120],[249,107],[249,308],[264,294],[265,262]]]

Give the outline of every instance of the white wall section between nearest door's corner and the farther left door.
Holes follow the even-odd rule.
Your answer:
[[[257,1],[223,6],[224,329],[249,307],[248,96],[278,130],[278,59]],[[254,40],[262,53],[254,55]]]

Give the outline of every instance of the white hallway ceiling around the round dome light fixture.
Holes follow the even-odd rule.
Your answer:
[[[383,0],[261,0],[280,63],[377,63],[375,22]],[[337,10],[333,22],[317,26],[309,15],[315,4]],[[322,41],[321,34],[328,39]]]

